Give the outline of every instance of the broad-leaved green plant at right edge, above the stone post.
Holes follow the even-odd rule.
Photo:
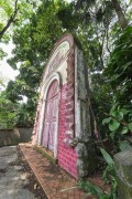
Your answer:
[[[132,133],[132,106],[121,107],[119,104],[114,104],[110,109],[109,117],[102,121],[103,125],[108,125],[110,138],[117,146],[117,149],[127,149],[130,147],[129,142],[124,142],[127,135]],[[124,144],[125,143],[125,147]]]

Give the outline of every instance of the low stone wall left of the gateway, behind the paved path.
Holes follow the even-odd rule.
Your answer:
[[[0,129],[0,147],[31,140],[33,128]]]

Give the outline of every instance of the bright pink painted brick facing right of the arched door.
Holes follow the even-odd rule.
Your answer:
[[[73,164],[73,157],[75,151],[68,149],[63,140],[65,138],[65,132],[67,129],[73,130],[74,128],[74,87],[73,81],[69,81],[65,84],[65,87],[62,87],[62,98],[61,98],[61,109],[59,109],[59,133],[58,133],[58,165],[61,165],[68,172],[75,172],[75,167]],[[67,104],[68,103],[68,104]],[[67,124],[68,122],[68,124]],[[74,132],[73,132],[74,133]],[[74,169],[73,169],[74,168]],[[75,174],[73,174],[75,176]]]

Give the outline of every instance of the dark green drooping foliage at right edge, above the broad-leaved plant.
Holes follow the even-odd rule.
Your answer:
[[[110,60],[105,75],[108,76],[113,88],[116,98],[120,104],[127,105],[132,100],[132,27],[118,34],[113,43],[114,50],[110,55]]]

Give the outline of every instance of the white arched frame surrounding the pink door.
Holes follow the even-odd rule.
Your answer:
[[[61,101],[61,75],[58,72],[54,73],[44,84],[43,86],[43,97],[42,97],[42,111],[41,111],[41,119],[40,119],[40,129],[38,129],[38,137],[37,143],[42,145],[42,137],[43,137],[43,124],[45,119],[45,108],[46,108],[46,97],[48,93],[48,88],[52,85],[52,83],[57,80],[58,82],[58,108],[57,108],[57,115],[56,115],[56,132],[55,132],[55,139],[54,139],[54,157],[57,157],[57,146],[58,146],[58,121],[59,121],[59,101]]]

